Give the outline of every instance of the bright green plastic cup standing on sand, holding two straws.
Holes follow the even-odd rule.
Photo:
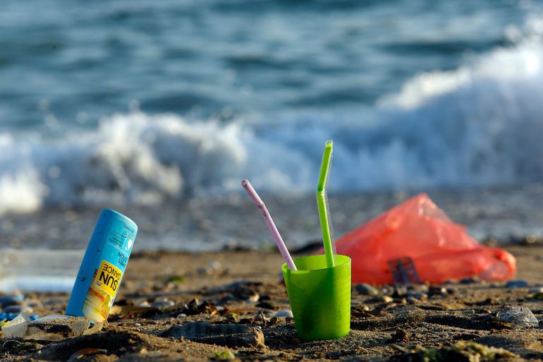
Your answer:
[[[350,330],[350,258],[336,258],[336,266],[330,268],[325,255],[294,259],[298,270],[283,264],[286,291],[301,339],[337,339]]]

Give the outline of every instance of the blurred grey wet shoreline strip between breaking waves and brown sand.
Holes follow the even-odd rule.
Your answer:
[[[240,186],[241,188],[241,186]],[[330,193],[336,239],[418,192]],[[479,241],[498,243],[541,239],[543,183],[506,188],[431,190],[429,197]],[[262,195],[289,250],[321,238],[315,195]],[[104,205],[112,207],[111,205]],[[271,250],[275,244],[264,220],[243,193],[221,198],[188,198],[161,205],[112,207],[139,227],[134,250],[218,251],[224,248]],[[4,247],[83,249],[98,206],[45,207],[32,214],[4,215]]]

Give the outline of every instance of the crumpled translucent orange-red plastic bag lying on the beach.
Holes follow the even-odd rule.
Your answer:
[[[403,282],[414,281],[409,274],[432,283],[470,276],[506,280],[516,265],[507,251],[477,243],[424,193],[343,236],[336,250],[352,259],[353,284],[391,284],[402,274]]]

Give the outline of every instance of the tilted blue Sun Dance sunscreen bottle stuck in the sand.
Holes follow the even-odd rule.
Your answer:
[[[66,315],[107,319],[121,286],[138,226],[120,213],[104,209],[83,257]]]

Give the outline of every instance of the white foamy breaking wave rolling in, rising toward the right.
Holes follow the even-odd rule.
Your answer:
[[[259,190],[311,191],[329,138],[339,190],[542,181],[543,25],[529,25],[514,47],[415,76],[347,121],[225,124],[135,111],[54,142],[0,135],[0,213],[161,203],[240,191],[244,178]]]

